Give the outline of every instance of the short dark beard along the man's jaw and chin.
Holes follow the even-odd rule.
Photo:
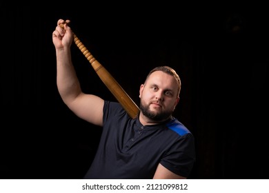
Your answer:
[[[152,121],[164,121],[168,119],[172,114],[171,110],[153,112],[150,110],[150,105],[146,105],[143,103],[143,101],[140,101],[140,111],[143,113],[143,115],[147,116],[148,119],[151,119]]]

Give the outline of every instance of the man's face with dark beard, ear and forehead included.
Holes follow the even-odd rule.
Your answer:
[[[178,88],[175,77],[161,71],[153,72],[140,86],[141,112],[153,121],[168,119],[179,102]]]

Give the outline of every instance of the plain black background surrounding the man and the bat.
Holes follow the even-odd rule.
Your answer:
[[[268,179],[269,13],[255,2],[0,3],[1,179],[81,179],[97,148],[101,128],[57,91],[60,18],[137,104],[149,70],[177,70],[174,116],[197,145],[190,179]],[[84,92],[115,101],[76,45],[72,61]]]

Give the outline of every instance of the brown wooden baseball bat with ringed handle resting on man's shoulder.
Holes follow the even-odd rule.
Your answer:
[[[63,25],[61,25],[63,28]],[[121,88],[121,85],[112,77],[110,72],[106,70],[106,68],[95,59],[92,54],[89,52],[89,50],[86,48],[83,43],[79,40],[76,34],[73,32],[74,37],[74,43],[77,45],[79,50],[83,53],[83,55],[88,59],[90,64],[92,65],[92,68],[95,70],[101,81],[106,85],[106,87],[110,90],[110,92],[114,95],[114,97],[119,101],[119,103],[122,105],[122,107],[126,110],[126,112],[129,114],[129,116],[132,117],[132,119],[135,119],[137,117],[137,114],[139,112],[138,106],[135,104],[134,101],[130,98],[130,96]]]

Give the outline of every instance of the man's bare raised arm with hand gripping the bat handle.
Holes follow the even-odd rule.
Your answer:
[[[64,28],[61,24],[64,23]],[[57,88],[61,99],[68,108],[94,125],[103,125],[103,99],[92,94],[85,94],[81,90],[79,79],[72,65],[70,47],[73,35],[69,20],[59,19],[57,27],[52,33],[52,41],[56,50],[57,59]]]

